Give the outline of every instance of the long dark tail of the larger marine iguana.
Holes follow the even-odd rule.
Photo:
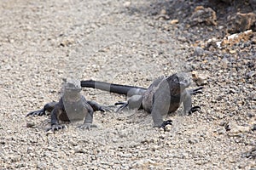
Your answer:
[[[147,90],[147,88],[113,84],[108,82],[98,82],[94,80],[81,81],[81,87],[96,88],[96,89],[101,89],[101,90],[116,93],[116,94],[125,94],[127,96],[143,94]]]

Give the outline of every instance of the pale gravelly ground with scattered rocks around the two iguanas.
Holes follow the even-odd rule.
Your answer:
[[[256,169],[255,3],[224,2],[2,0],[0,169]],[[67,77],[147,88],[180,71],[204,86],[201,111],[180,108],[167,132],[145,111],[97,111],[96,128],[56,133],[49,116],[26,117]]]

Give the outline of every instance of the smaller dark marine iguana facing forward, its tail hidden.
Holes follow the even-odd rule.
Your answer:
[[[59,102],[50,102],[44,105],[44,108],[38,111],[31,111],[26,116],[43,116],[46,111],[50,112],[51,127],[46,131],[63,129],[65,125],[61,125],[60,121],[72,122],[82,121],[80,128],[90,129],[92,125],[94,111],[108,111],[108,107],[97,104],[95,101],[88,101],[84,98],[80,91],[80,81],[69,80],[65,82],[63,94]]]

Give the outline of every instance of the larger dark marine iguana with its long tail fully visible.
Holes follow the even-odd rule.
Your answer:
[[[184,115],[189,115],[200,110],[200,106],[192,107],[191,94],[202,94],[202,87],[189,88],[190,79],[184,73],[176,73],[170,77],[159,77],[148,88],[119,85],[108,82],[97,82],[93,80],[81,81],[82,88],[97,88],[104,91],[125,94],[130,99],[127,102],[118,102],[120,109],[144,109],[151,113],[154,127],[165,128],[172,124],[172,120],[163,120],[163,116],[177,111],[183,103]]]

